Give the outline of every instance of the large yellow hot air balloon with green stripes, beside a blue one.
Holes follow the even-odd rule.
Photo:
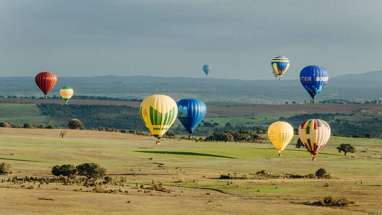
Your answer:
[[[159,139],[176,120],[177,106],[174,99],[166,95],[152,95],[142,101],[140,114],[143,123],[159,145]]]

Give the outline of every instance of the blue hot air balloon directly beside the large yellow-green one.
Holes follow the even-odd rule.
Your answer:
[[[196,98],[186,98],[178,101],[178,119],[189,133],[192,139],[194,129],[206,115],[206,104]]]

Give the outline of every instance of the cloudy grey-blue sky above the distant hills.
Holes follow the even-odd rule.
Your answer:
[[[0,76],[272,79],[382,70],[382,1],[0,0]]]

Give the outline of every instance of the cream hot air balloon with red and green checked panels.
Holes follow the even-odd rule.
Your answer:
[[[298,127],[298,136],[316,160],[315,155],[330,138],[330,127],[321,119],[309,119]]]

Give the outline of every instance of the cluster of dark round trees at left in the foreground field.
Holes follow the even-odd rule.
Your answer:
[[[88,185],[89,180],[96,181],[99,178],[106,176],[106,169],[101,167],[99,164],[85,163],[78,166],[72,164],[67,165],[56,165],[52,167],[52,174],[55,176],[67,176],[69,178],[74,178],[76,175],[85,176],[85,185]]]

